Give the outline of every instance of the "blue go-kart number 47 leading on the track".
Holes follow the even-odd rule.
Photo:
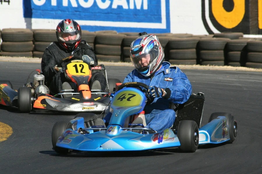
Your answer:
[[[162,132],[145,128],[143,124],[132,124],[132,117],[141,113],[146,102],[151,100],[141,87],[149,88],[139,82],[119,86],[111,101],[112,116],[108,126],[94,126],[98,118],[94,113],[79,113],[69,122],[56,122],[52,129],[54,150],[67,154],[72,150],[142,151],[178,147],[183,152],[195,152],[199,144],[232,143],[235,140],[237,123],[229,113],[213,113],[208,124],[200,127],[203,93],[191,95],[183,105],[174,107],[171,104],[170,108],[177,111],[176,122]],[[133,132],[137,129],[142,133]]]

